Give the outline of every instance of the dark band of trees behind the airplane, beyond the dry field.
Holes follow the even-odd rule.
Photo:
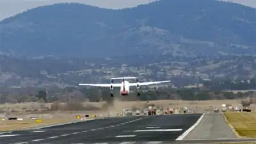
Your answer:
[[[113,101],[110,97],[109,89],[77,89],[76,87],[66,87],[65,89],[2,89],[0,103],[23,103],[36,102],[52,103],[54,101],[67,102],[70,99],[78,101]],[[252,92],[237,94],[233,92],[223,92],[221,90],[200,89],[172,89],[171,87],[159,89],[141,89],[141,96],[138,97],[136,89],[132,89],[129,96],[120,96],[119,90],[114,90],[114,97],[119,97],[122,101],[147,101],[157,99],[182,99],[188,101],[209,100],[209,99],[239,99],[248,97]]]

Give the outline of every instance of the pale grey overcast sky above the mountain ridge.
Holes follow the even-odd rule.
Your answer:
[[[22,11],[26,11],[37,6],[44,6],[46,4],[74,2],[84,3],[101,8],[129,8],[137,6],[138,4],[150,3],[157,0],[0,0],[0,20],[6,17],[16,15]],[[247,6],[256,8],[256,0],[223,0],[234,1]]]

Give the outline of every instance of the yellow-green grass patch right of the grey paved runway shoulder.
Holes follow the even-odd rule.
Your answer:
[[[228,123],[239,136],[256,138],[256,113],[225,113]]]

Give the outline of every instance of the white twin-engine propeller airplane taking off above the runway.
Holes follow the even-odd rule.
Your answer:
[[[114,80],[121,80],[122,83],[113,83]],[[136,83],[129,83],[127,79],[136,79]],[[113,88],[114,87],[120,87],[120,94],[122,96],[127,96],[130,91],[130,87],[136,86],[138,90],[137,96],[140,96],[140,86],[143,85],[156,85],[159,83],[166,83],[166,82],[171,82],[170,80],[166,81],[159,81],[159,82],[138,82],[138,78],[136,77],[118,77],[118,78],[110,78],[111,83],[102,83],[102,84],[90,84],[90,83],[80,83],[79,85],[84,85],[84,86],[92,86],[92,87],[110,87],[111,90],[111,97],[113,97]]]

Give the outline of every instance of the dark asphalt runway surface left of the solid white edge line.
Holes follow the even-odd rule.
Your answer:
[[[0,143],[173,143],[201,115],[96,119],[36,130],[0,133]]]

